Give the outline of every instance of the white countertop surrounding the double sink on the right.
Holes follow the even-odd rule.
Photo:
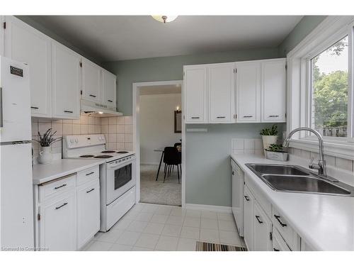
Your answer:
[[[231,156],[310,247],[315,250],[354,250],[353,197],[275,192],[245,164],[302,164],[267,160],[261,155]]]

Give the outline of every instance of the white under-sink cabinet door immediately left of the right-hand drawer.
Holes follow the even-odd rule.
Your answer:
[[[270,251],[273,250],[271,235],[272,222],[265,214],[261,206],[253,203],[253,250]]]

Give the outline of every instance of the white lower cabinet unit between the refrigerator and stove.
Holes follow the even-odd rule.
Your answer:
[[[98,172],[98,166],[89,170]],[[35,187],[35,246],[39,250],[79,250],[99,231],[99,177],[89,175],[84,180],[85,172]]]

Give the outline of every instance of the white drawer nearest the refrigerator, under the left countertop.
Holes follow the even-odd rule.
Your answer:
[[[58,196],[64,192],[68,192],[75,187],[76,174],[69,174],[57,180],[40,184],[39,186],[39,201],[45,201]]]

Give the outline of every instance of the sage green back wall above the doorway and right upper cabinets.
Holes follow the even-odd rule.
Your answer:
[[[132,115],[132,83],[183,79],[183,65],[233,62],[278,57],[278,49],[239,50],[199,55],[155,57],[105,62],[103,66],[118,76],[118,111]]]

